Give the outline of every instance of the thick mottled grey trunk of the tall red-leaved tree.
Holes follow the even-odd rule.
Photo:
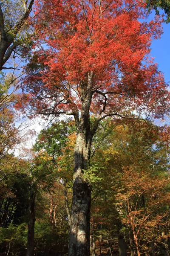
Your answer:
[[[92,93],[86,93],[82,102],[82,113],[74,148],[73,198],[71,206],[71,225],[69,235],[69,256],[90,256],[90,208],[91,186],[85,180],[84,171],[88,169],[91,141],[90,104]]]

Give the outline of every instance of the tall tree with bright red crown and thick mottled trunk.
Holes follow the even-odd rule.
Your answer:
[[[32,113],[72,115],[77,126],[69,256],[90,253],[91,185],[83,174],[99,122],[134,118],[133,111],[154,117],[167,111],[167,85],[148,57],[161,22],[139,21],[144,7],[131,0],[36,4],[36,49],[25,78]]]

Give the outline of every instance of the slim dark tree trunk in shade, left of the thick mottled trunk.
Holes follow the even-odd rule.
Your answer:
[[[35,197],[36,197],[36,184],[31,185],[30,204],[28,212],[28,248],[26,256],[34,256],[34,226],[35,226]]]

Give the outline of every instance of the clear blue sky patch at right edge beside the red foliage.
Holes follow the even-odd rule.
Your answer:
[[[151,55],[159,65],[159,70],[164,73],[165,81],[170,81],[170,23],[164,23],[164,34],[161,39],[154,40],[151,44]]]

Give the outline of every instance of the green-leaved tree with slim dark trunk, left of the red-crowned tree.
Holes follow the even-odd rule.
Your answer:
[[[34,157],[31,160],[31,168],[29,170],[31,174],[31,189],[28,212],[27,256],[34,256],[34,228],[36,220],[35,198],[37,193],[40,192],[40,190],[43,190],[50,194],[56,181],[61,184],[63,183],[63,180],[61,181],[62,177],[57,177],[57,158],[62,154],[62,147],[65,146],[67,131],[68,127],[64,121],[52,124],[50,128],[43,129],[40,132],[33,148]],[[35,152],[37,152],[37,154]],[[65,182],[62,186],[64,185]],[[65,193],[65,198],[67,198],[67,188],[65,188]],[[66,201],[66,203],[68,204],[68,201]],[[54,221],[56,221],[55,210],[53,217]],[[69,215],[68,218],[70,218]]]

